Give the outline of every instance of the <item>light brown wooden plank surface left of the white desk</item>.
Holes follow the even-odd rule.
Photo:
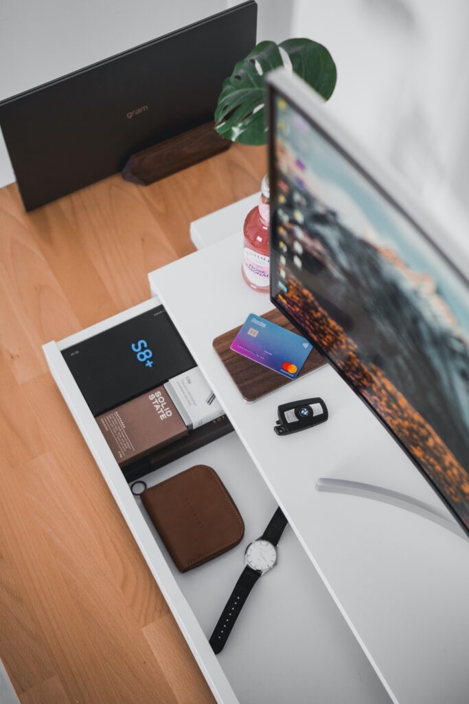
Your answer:
[[[189,222],[265,170],[264,149],[236,145],[29,214],[0,189],[0,658],[22,704],[213,701],[41,345],[148,298],[147,272],[193,251]]]

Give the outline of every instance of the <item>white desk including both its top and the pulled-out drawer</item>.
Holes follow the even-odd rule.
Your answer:
[[[242,222],[245,207],[236,208]],[[229,213],[224,216],[229,225]],[[223,232],[216,220],[210,216],[212,235]],[[210,244],[204,227],[200,232],[200,243]],[[390,698],[399,704],[467,704],[467,541],[394,505],[315,488],[321,476],[380,484],[441,511],[430,486],[328,367],[256,403],[240,398],[212,339],[271,306],[240,276],[239,234],[153,272],[150,285],[236,433],[145,479],[152,486],[191,465],[215,467],[245,522],[245,539],[233,550],[186,574],[176,570],[61,354],[152,308],[158,297],[50,342],[44,353],[219,704],[389,704]],[[292,437],[276,436],[278,403],[310,394],[326,399],[330,420]],[[217,657],[208,637],[243,568],[246,544],[262,532],[276,503],[293,530],[285,530],[278,565],[253,591]]]

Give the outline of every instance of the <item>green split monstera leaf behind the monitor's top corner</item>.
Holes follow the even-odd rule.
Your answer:
[[[325,46],[311,39],[286,39],[278,45],[261,42],[223,82],[215,111],[215,130],[221,137],[243,144],[266,143],[265,77],[283,65],[293,68],[325,100],[333,94],[337,71]]]

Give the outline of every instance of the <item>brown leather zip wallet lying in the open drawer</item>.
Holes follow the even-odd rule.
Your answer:
[[[212,467],[195,465],[140,495],[179,572],[239,543],[244,522]]]

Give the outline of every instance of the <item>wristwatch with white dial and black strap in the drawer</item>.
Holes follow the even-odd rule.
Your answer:
[[[252,541],[246,548],[245,568],[236,582],[233,593],[221,612],[218,623],[210,636],[210,645],[214,653],[221,653],[231,630],[240,614],[240,610],[250,595],[252,587],[259,577],[270,572],[277,562],[276,546],[288,521],[279,507],[271,517],[264,534]]]

